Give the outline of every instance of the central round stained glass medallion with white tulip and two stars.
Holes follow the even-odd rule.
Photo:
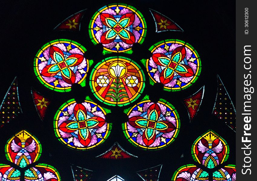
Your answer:
[[[140,66],[125,57],[110,57],[98,63],[91,75],[90,86],[103,103],[124,106],[143,92],[145,77]]]

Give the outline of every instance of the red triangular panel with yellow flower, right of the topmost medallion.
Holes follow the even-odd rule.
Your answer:
[[[179,27],[179,25],[163,14],[153,9],[150,9],[150,12],[154,18],[157,33],[161,31],[184,31],[181,27]]]

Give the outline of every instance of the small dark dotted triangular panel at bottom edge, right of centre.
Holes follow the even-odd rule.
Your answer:
[[[162,169],[162,165],[157,165],[156,167],[152,167],[152,168],[148,168],[148,169],[145,169],[145,170],[137,171],[137,174],[144,181],[158,181],[161,169]]]

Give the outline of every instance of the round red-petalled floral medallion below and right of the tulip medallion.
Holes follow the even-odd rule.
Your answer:
[[[133,106],[127,115],[129,120],[122,128],[134,146],[157,150],[169,145],[178,135],[179,115],[165,100],[157,103],[144,100]]]

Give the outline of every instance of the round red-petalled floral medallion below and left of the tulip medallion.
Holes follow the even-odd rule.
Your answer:
[[[105,121],[106,112],[110,110],[100,107],[89,98],[83,103],[68,100],[54,116],[55,135],[69,148],[94,148],[110,134],[111,123]]]

